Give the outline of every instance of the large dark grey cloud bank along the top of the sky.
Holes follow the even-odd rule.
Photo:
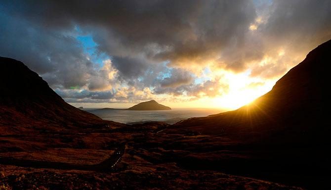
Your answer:
[[[9,4],[10,13],[43,27],[79,25],[89,30],[94,26],[91,32],[99,50],[112,56],[142,53],[175,65],[204,62],[233,40],[240,46],[256,16],[249,0],[41,0]]]

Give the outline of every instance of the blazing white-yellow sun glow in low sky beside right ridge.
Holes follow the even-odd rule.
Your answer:
[[[220,71],[222,73],[222,79],[219,83],[228,84],[228,90],[224,93],[219,89],[219,95],[215,97],[204,96],[201,92],[201,97],[195,100],[189,101],[184,97],[178,97],[178,101],[164,101],[166,105],[176,108],[218,108],[224,111],[237,109],[244,106],[257,97],[269,92],[275,85],[276,80],[266,80],[261,78],[250,77],[250,71],[244,73],[232,73],[228,71]],[[215,90],[217,88],[213,88]],[[182,101],[181,101],[182,100]]]

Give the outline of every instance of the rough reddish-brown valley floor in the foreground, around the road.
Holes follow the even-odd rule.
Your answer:
[[[165,127],[167,125],[163,123],[150,123],[39,136],[0,136],[2,158],[76,165],[100,163],[114,154],[119,144],[126,144],[121,160],[103,172],[0,164],[0,189],[300,189],[224,174],[218,166],[208,168],[199,162],[206,162],[210,158],[220,159],[219,155],[226,159],[245,159],[246,156],[226,150],[216,153],[211,149],[215,148],[216,142],[223,146],[236,142],[194,132],[187,132],[184,136],[166,134],[162,131]],[[184,164],[192,158],[199,158],[200,161],[194,166],[190,166],[189,162]],[[196,168],[199,165],[202,168]]]

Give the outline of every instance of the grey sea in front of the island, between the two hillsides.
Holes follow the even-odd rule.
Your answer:
[[[158,111],[134,111],[134,110],[98,110],[84,109],[104,120],[111,120],[125,124],[146,123],[150,121],[162,121],[174,124],[191,117],[204,117],[223,112],[220,109],[172,109]]]

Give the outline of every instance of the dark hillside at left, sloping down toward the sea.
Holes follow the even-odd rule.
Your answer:
[[[104,125],[99,117],[66,103],[22,62],[0,57],[2,134]]]

